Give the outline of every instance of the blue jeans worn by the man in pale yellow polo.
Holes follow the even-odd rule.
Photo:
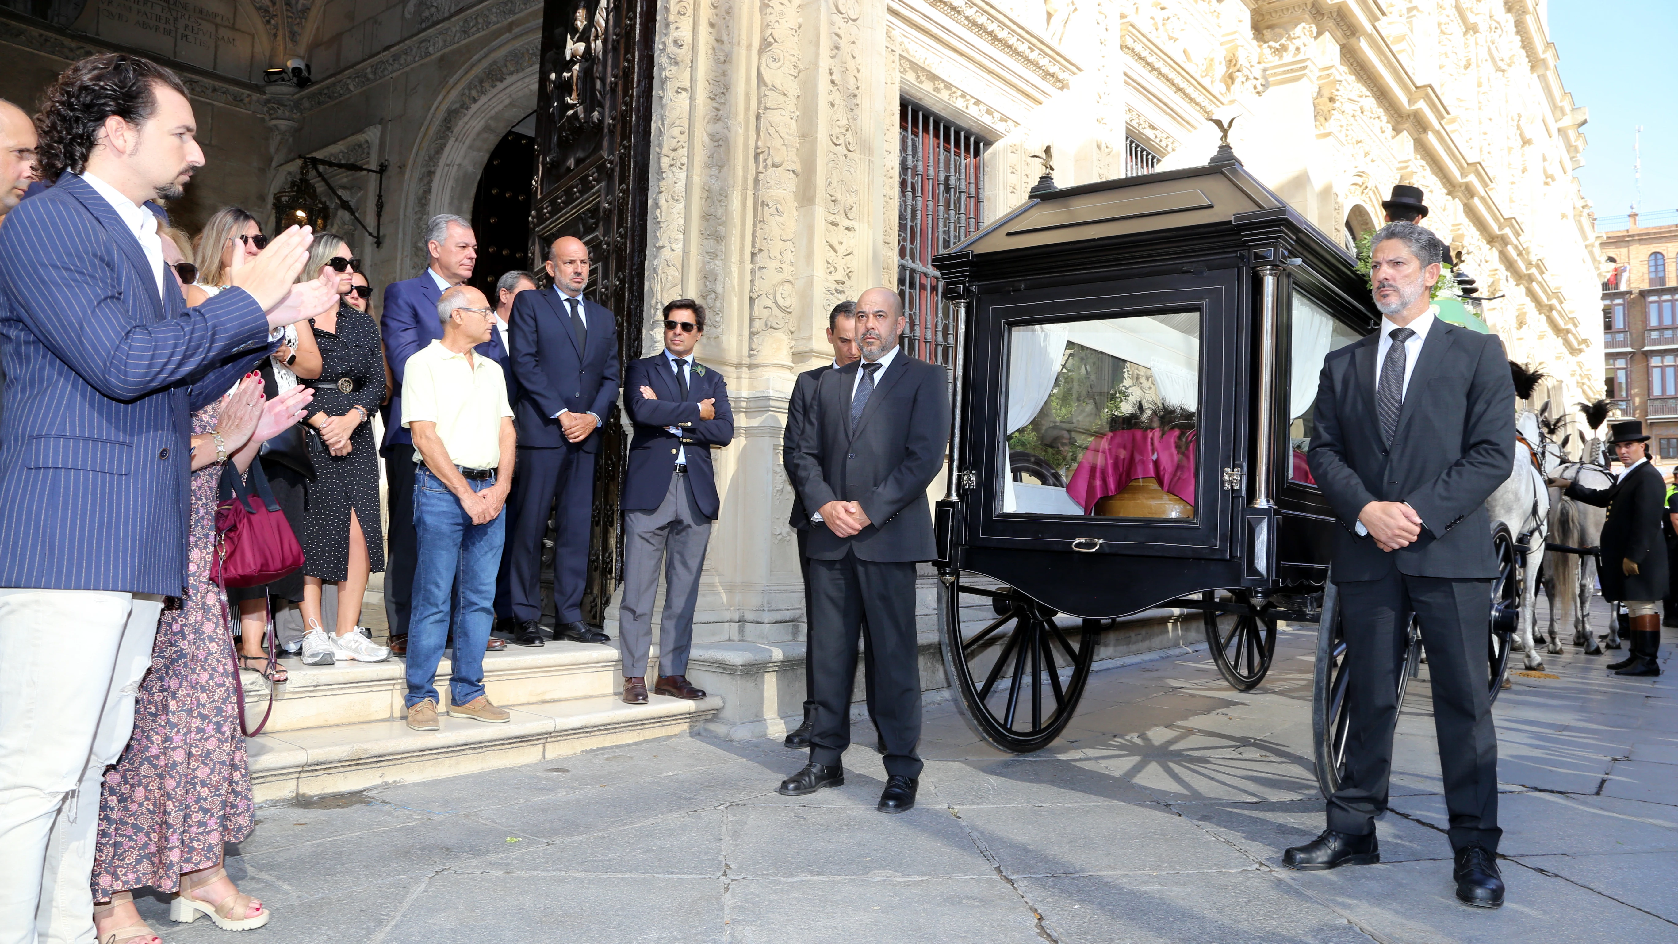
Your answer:
[[[473,492],[495,485],[495,477],[466,479]],[[408,615],[408,707],[425,699],[441,702],[433,680],[448,640],[450,598],[455,600],[455,653],[448,684],[450,704],[463,705],[483,694],[483,647],[495,623],[495,571],[502,564],[507,514],[488,524],[472,524],[460,499],[430,469],[414,470],[414,590]]]

